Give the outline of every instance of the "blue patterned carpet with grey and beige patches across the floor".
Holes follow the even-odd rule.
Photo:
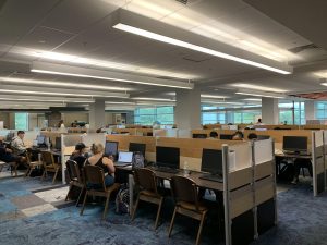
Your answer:
[[[114,213],[113,204],[110,204],[107,219],[101,221],[101,205],[87,205],[84,215],[80,216],[80,207],[58,208],[40,198],[41,195],[39,197],[31,192],[48,186],[51,186],[50,182],[40,182],[39,179],[0,179],[0,244],[195,243],[198,223],[186,218],[177,220],[172,237],[168,238],[170,208],[162,212],[162,223],[154,231],[156,209],[153,206],[142,205],[132,222],[128,215]],[[38,208],[44,210],[39,211]],[[327,195],[313,197],[310,185],[298,185],[278,195],[278,226],[262,235],[253,245],[327,244]],[[208,219],[202,244],[221,244],[221,240],[217,224]]]

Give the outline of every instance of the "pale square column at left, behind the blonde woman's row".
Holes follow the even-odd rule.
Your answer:
[[[96,99],[89,106],[89,128],[97,130],[106,125],[105,121],[105,100]]]

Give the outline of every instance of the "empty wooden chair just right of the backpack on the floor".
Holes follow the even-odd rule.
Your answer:
[[[136,204],[133,210],[132,220],[135,218],[135,213],[138,207],[138,201],[144,200],[158,205],[157,218],[155,222],[155,230],[158,228],[159,216],[164,203],[164,196],[158,193],[157,179],[153,170],[140,168],[135,169],[135,183],[140,187]]]

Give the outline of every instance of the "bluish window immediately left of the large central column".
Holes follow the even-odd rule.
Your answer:
[[[141,125],[153,125],[155,121],[161,124],[173,124],[173,107],[137,108],[134,112],[134,122]]]

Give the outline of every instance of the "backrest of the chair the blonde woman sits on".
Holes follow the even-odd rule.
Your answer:
[[[106,189],[105,173],[100,167],[85,166],[83,171],[85,184],[88,188]]]

